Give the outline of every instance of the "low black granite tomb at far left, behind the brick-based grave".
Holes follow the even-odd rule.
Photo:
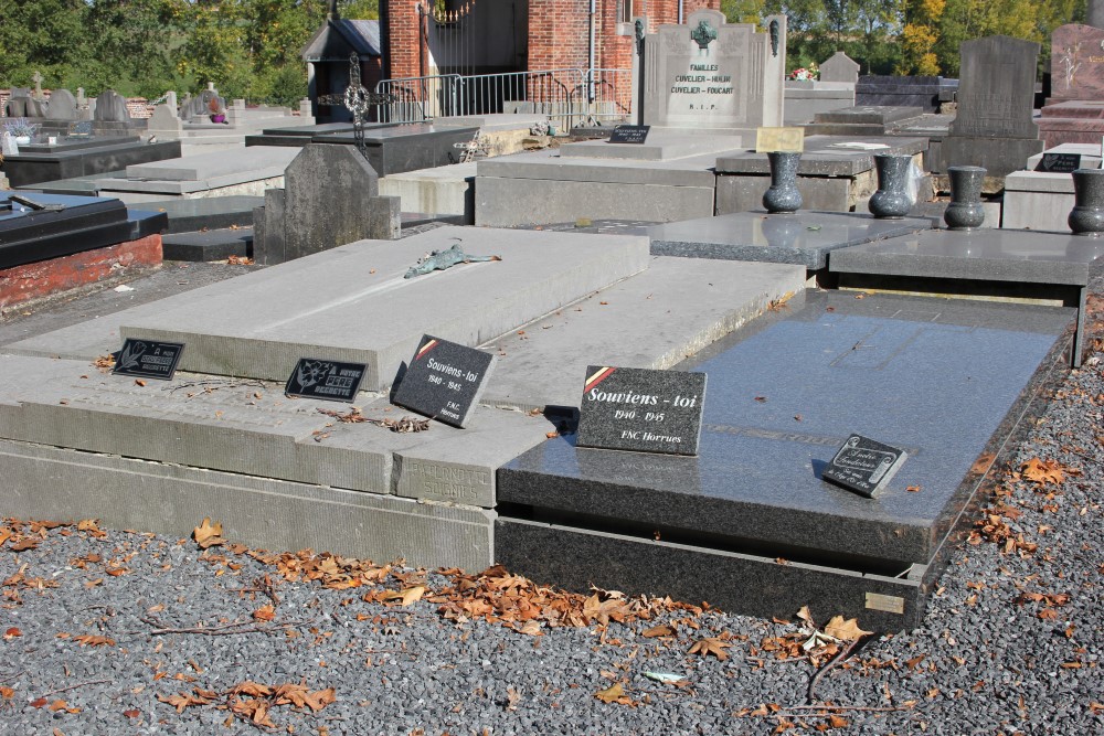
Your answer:
[[[8,175],[12,186],[26,186],[39,182],[72,179],[88,174],[119,171],[135,163],[149,163],[164,159],[180,158],[180,141],[167,140],[153,143],[135,141],[106,142],[105,145],[59,150],[45,153],[23,153],[4,158],[0,169]]]

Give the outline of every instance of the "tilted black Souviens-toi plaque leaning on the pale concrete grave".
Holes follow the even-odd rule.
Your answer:
[[[394,402],[454,427],[467,424],[495,356],[475,348],[423,335]]]

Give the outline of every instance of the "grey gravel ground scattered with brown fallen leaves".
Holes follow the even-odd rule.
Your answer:
[[[1098,305],[1101,281],[1094,287]],[[1096,311],[1097,330],[1102,318]],[[20,321],[25,333],[49,320],[0,322],[0,342],[18,339]],[[470,617],[442,614],[475,598],[444,594],[464,586],[436,570],[9,520],[0,525],[0,730],[1104,733],[1102,346],[997,470],[996,492],[923,626],[863,641],[819,679],[831,658],[802,655],[809,634],[796,617],[676,608],[602,626],[595,600],[585,608],[581,597],[572,605],[588,611],[588,626],[526,633],[514,630],[522,619],[488,622],[474,604]],[[296,569],[300,579],[289,579]],[[320,579],[301,579],[311,569]],[[342,589],[352,578],[367,584]],[[821,626],[832,614],[811,611]],[[670,633],[655,636],[662,623]],[[702,640],[712,646],[696,648]],[[808,707],[810,690],[821,707]]]

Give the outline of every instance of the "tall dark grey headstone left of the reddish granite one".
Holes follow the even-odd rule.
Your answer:
[[[958,115],[943,139],[943,167],[984,166],[990,177],[1022,169],[1042,150],[1032,117],[1039,44],[992,35],[959,47]]]

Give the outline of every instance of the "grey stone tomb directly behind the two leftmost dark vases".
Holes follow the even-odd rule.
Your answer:
[[[917,156],[923,138],[888,136],[809,136],[797,168],[797,190],[806,210],[864,211],[878,190],[874,154]],[[716,214],[750,212],[763,206],[771,185],[766,153],[736,151],[716,159]]]

